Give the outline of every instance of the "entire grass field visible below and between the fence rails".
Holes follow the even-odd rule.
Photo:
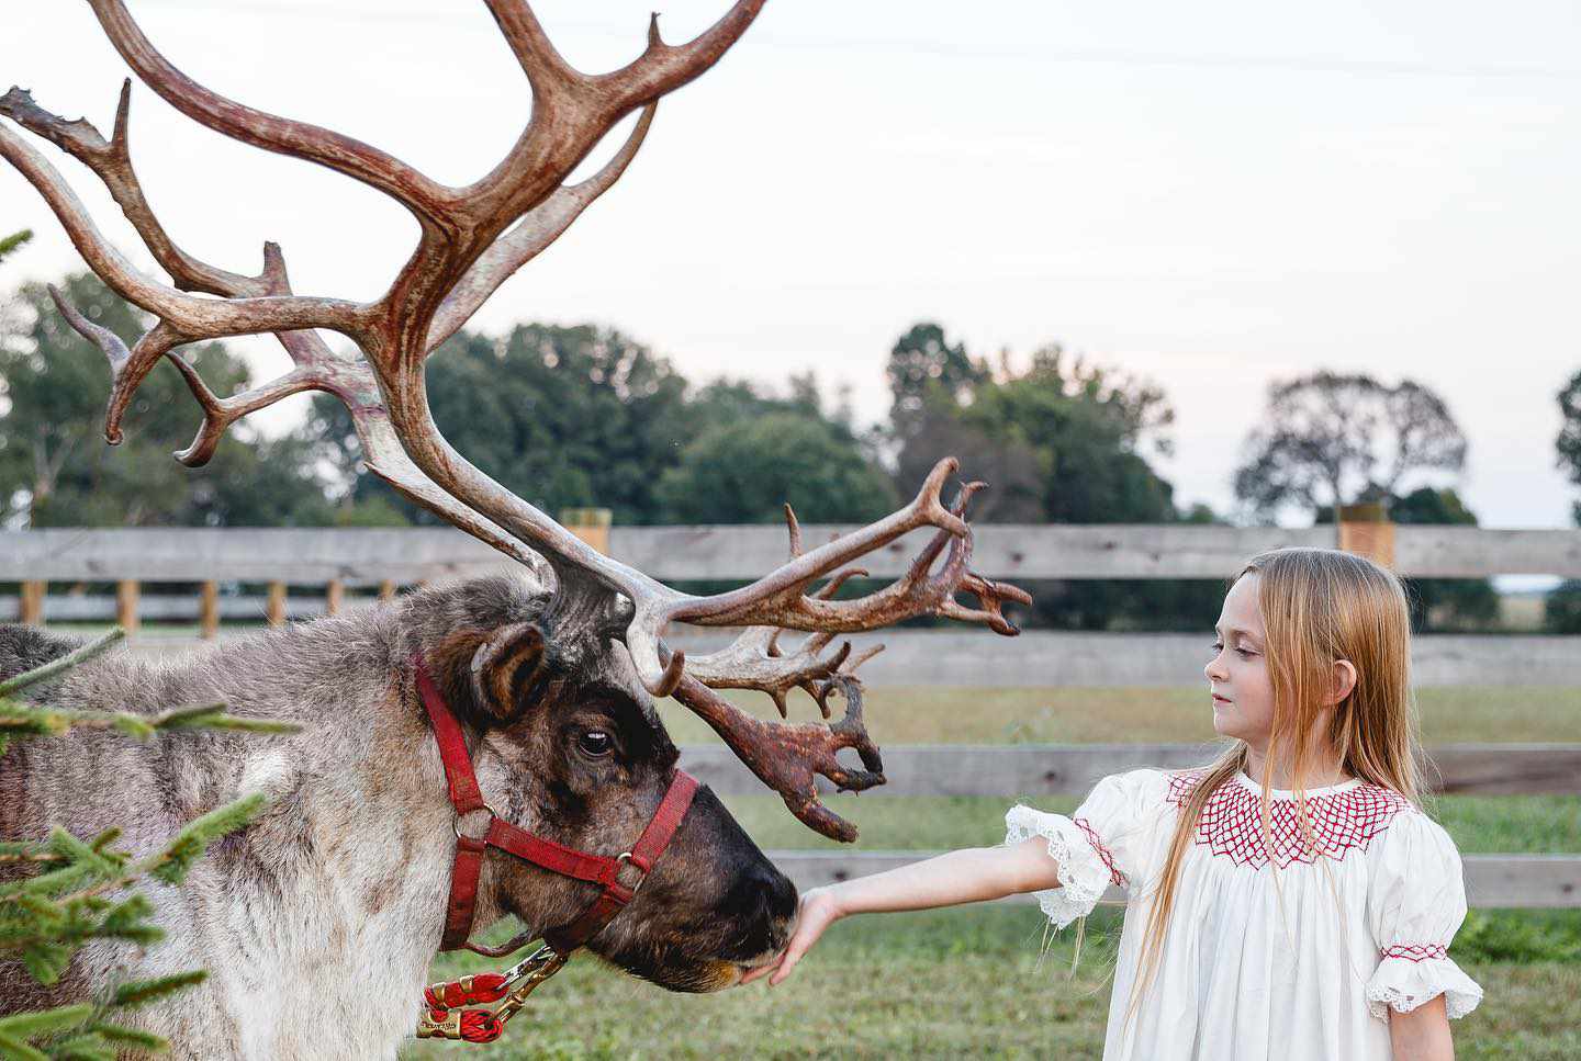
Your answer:
[[[762,696],[738,703],[764,712]],[[1581,690],[1428,688],[1423,736],[1437,742],[1581,742]],[[770,709],[772,710],[772,709]],[[792,706],[811,717],[809,703]],[[680,744],[713,740],[685,709],[662,707]],[[1208,742],[1197,688],[873,688],[881,744]],[[857,848],[998,843],[1010,797],[836,796],[862,829]],[[1039,799],[1069,812],[1078,799]],[[765,848],[832,848],[773,794],[726,799]],[[1466,853],[1581,854],[1581,797],[1445,796],[1429,810]],[[1032,908],[982,906],[858,917],[836,925],[778,988],[670,995],[579,957],[490,1047],[411,1044],[406,1061],[525,1058],[1099,1058],[1119,911],[1089,920],[1075,973],[1073,933],[1042,955]],[[495,935],[503,936],[503,930]],[[1461,1059],[1581,1058],[1581,911],[1475,909],[1455,958],[1488,996],[1455,1025]],[[501,962],[441,957],[432,979]]]

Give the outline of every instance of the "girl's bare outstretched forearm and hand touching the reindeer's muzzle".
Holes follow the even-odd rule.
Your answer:
[[[741,982],[768,976],[773,985],[786,979],[824,930],[849,914],[980,903],[1045,887],[1059,887],[1059,865],[1048,856],[1048,842],[1042,837],[1009,848],[950,851],[873,876],[814,887],[802,894],[795,932],[779,962],[753,969]]]

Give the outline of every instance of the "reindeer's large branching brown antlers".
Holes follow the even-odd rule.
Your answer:
[[[286,395],[302,390],[335,395],[351,412],[368,469],[402,494],[522,564],[534,565],[539,557],[547,559],[561,573],[563,584],[569,575],[579,583],[585,575],[606,590],[628,597],[632,617],[624,643],[648,690],[653,695],[677,693],[726,734],[743,759],[756,763],[753,769],[786,794],[803,821],[830,835],[844,835],[849,826],[830,821],[832,816],[817,807],[816,793],[809,788],[811,772],[851,782],[849,786],[876,783],[873,778],[881,780],[881,775],[873,766],[876,748],[862,729],[860,687],[851,676],[871,652],[855,662],[849,646],[822,655],[833,636],[873,630],[917,614],[982,622],[1009,635],[1015,633],[1015,627],[1001,614],[1001,605],[1028,600],[1021,590],[990,583],[968,570],[971,530],[964,521],[964,501],[975,486],[963,489],[957,512],[941,501],[955,461],[941,461],[909,505],[811,553],[802,553],[795,516],[787,515],[792,534],[789,562],[751,586],[696,597],[599,554],[468,463],[435,426],[424,387],[425,358],[506,278],[549,246],[620,178],[651,126],[658,99],[718,62],[757,16],[764,0],[738,0],[711,28],[680,46],[661,39],[655,19],[642,55],[606,74],[585,74],[566,63],[525,0],[485,0],[531,85],[533,112],[506,156],[465,188],[441,185],[345,134],[226,99],[160,55],[122,0],[89,2],[138,77],[177,111],[245,144],[346,174],[402,204],[421,229],[411,257],[389,291],[372,303],[292,294],[285,259],[274,243],[264,245],[264,265],[258,276],[215,268],[177,248],[149,207],[128,145],[130,82],[122,87],[109,141],[89,122],[66,122],[38,107],[28,93],[13,88],[0,99],[0,115],[49,139],[92,169],[174,281],[172,287],[138,273],[98,231],[62,175],[22,137],[0,125],[0,155],[44,196],[89,267],[119,295],[158,319],[128,349],[112,333],[82,319],[55,292],[66,319],[111,362],[106,437],[119,441],[120,418],[138,385],[166,357],[182,373],[204,414],[193,444],[177,453],[177,459],[188,466],[206,463],[236,420]],[[566,177],[588,152],[637,109],[642,114],[636,128],[615,156],[591,178],[566,185]],[[360,355],[332,351],[315,332],[319,328],[349,338]],[[229,398],[213,395],[198,371],[175,352],[182,344],[199,339],[255,333],[274,333],[291,355],[292,369]],[[849,564],[917,527],[930,526],[938,534],[904,578],[866,597],[835,598],[835,589],[854,573],[847,570]],[[944,562],[933,572],[941,554]],[[808,592],[825,578],[832,581],[822,590]],[[971,609],[960,605],[955,600],[958,590],[975,594],[980,606]],[[746,625],[749,630],[730,649],[699,657],[688,668],[685,655],[672,654],[662,643],[670,622]],[[813,636],[795,652],[783,655],[778,649],[778,632],[783,628],[805,630]],[[710,687],[730,685],[768,692],[781,714],[784,695],[790,688],[805,688],[819,701],[825,717],[827,696],[838,688],[846,692],[847,715],[835,726],[816,726],[828,734],[817,739],[805,736],[797,726],[775,728],[783,723],[751,720],[748,725],[743,722],[749,720],[748,715],[729,704],[724,706],[729,710],[721,709],[718,704],[724,701],[708,692]],[[844,772],[833,763],[838,747],[857,747],[865,761],[871,752],[873,774]],[[794,767],[787,756],[795,759]]]

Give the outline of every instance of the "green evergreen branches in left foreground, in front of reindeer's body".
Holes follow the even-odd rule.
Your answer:
[[[179,707],[161,715],[114,710],[66,710],[19,698],[60,677],[109,647],[115,630],[33,671],[0,684],[0,758],[8,744],[66,739],[74,729],[115,729],[138,740],[174,729],[248,729],[292,733],[296,726],[225,714],[223,704]],[[55,984],[73,955],[93,939],[125,939],[153,946],[164,930],[155,925],[149,884],[179,886],[215,840],[243,827],[266,805],[261,793],[243,796],[190,821],[158,851],[134,859],[115,848],[120,829],[77,837],[55,827],[44,840],[0,837],[0,958],[14,960],[41,985]],[[120,1020],[130,1009],[201,982],[191,969],[150,980],[123,980],[93,1003],[0,1017],[0,1055],[82,1061],[166,1050],[168,1042]]]

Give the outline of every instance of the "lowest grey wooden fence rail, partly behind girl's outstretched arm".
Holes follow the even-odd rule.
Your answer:
[[[768,851],[775,865],[798,889],[882,873],[926,859],[938,851]],[[1581,857],[1568,854],[1467,854],[1466,898],[1472,906],[1578,908],[1581,906]],[[1123,903],[1126,894],[1110,887],[1105,902]],[[1007,903],[1034,903],[1034,895],[1012,895]]]

